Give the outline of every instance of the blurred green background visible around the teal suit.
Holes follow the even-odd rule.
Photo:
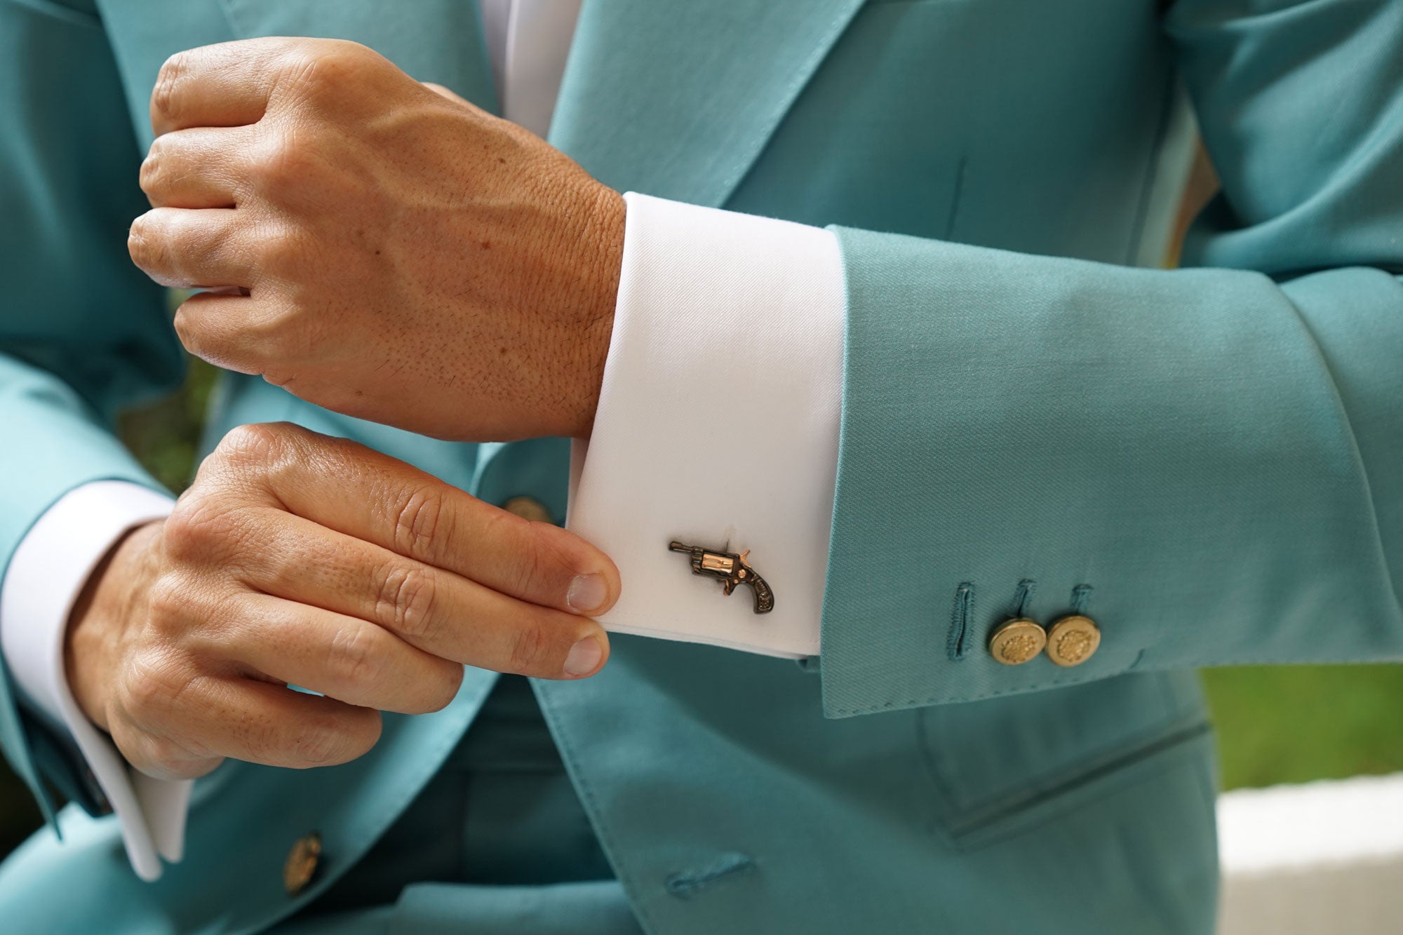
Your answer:
[[[1215,190],[1200,153],[1180,230]],[[1166,265],[1176,265],[1176,256]],[[171,490],[182,490],[194,473],[213,376],[213,368],[192,359],[178,393],[121,421],[126,444]],[[1223,668],[1202,678],[1225,789],[1403,771],[1403,665]],[[38,825],[28,792],[0,762],[0,855]]]

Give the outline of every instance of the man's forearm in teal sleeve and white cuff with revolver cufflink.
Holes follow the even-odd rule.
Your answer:
[[[606,625],[807,654],[822,606],[833,716],[1129,668],[1403,651],[1397,549],[1383,545],[1403,503],[1393,277],[1278,285],[856,230],[828,254],[815,229],[630,204],[571,517],[641,583]],[[686,223],[669,229],[669,215]],[[822,327],[829,275],[846,336]],[[737,348],[752,302],[758,333]],[[842,373],[836,357],[826,372],[845,344]],[[717,373],[774,418],[693,417]],[[746,483],[697,493],[732,475]],[[716,546],[753,548],[760,570],[779,556],[788,614],[723,602],[665,550],[711,528]],[[1103,637],[1061,657],[1073,664],[991,651],[1012,618],[1047,629],[1070,615]]]

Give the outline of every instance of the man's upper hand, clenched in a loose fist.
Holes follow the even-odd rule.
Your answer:
[[[563,153],[333,39],[181,52],[152,126],[129,247],[219,289],[194,354],[439,438],[589,432],[624,205]]]

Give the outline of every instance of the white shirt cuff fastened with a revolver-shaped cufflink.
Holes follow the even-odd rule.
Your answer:
[[[619,566],[605,629],[815,656],[838,472],[846,292],[821,227],[630,192],[613,337],[567,525]],[[724,597],[671,541],[749,550]]]

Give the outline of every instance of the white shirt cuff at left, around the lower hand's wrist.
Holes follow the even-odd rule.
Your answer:
[[[60,497],[29,528],[0,583],[0,650],[17,688],[55,726],[67,727],[112,804],[132,869],[143,880],[180,861],[191,781],[152,779],[128,765],[79,708],[63,664],[73,602],[93,569],[128,531],[171,511],[173,500],[125,480],[97,480]]]

